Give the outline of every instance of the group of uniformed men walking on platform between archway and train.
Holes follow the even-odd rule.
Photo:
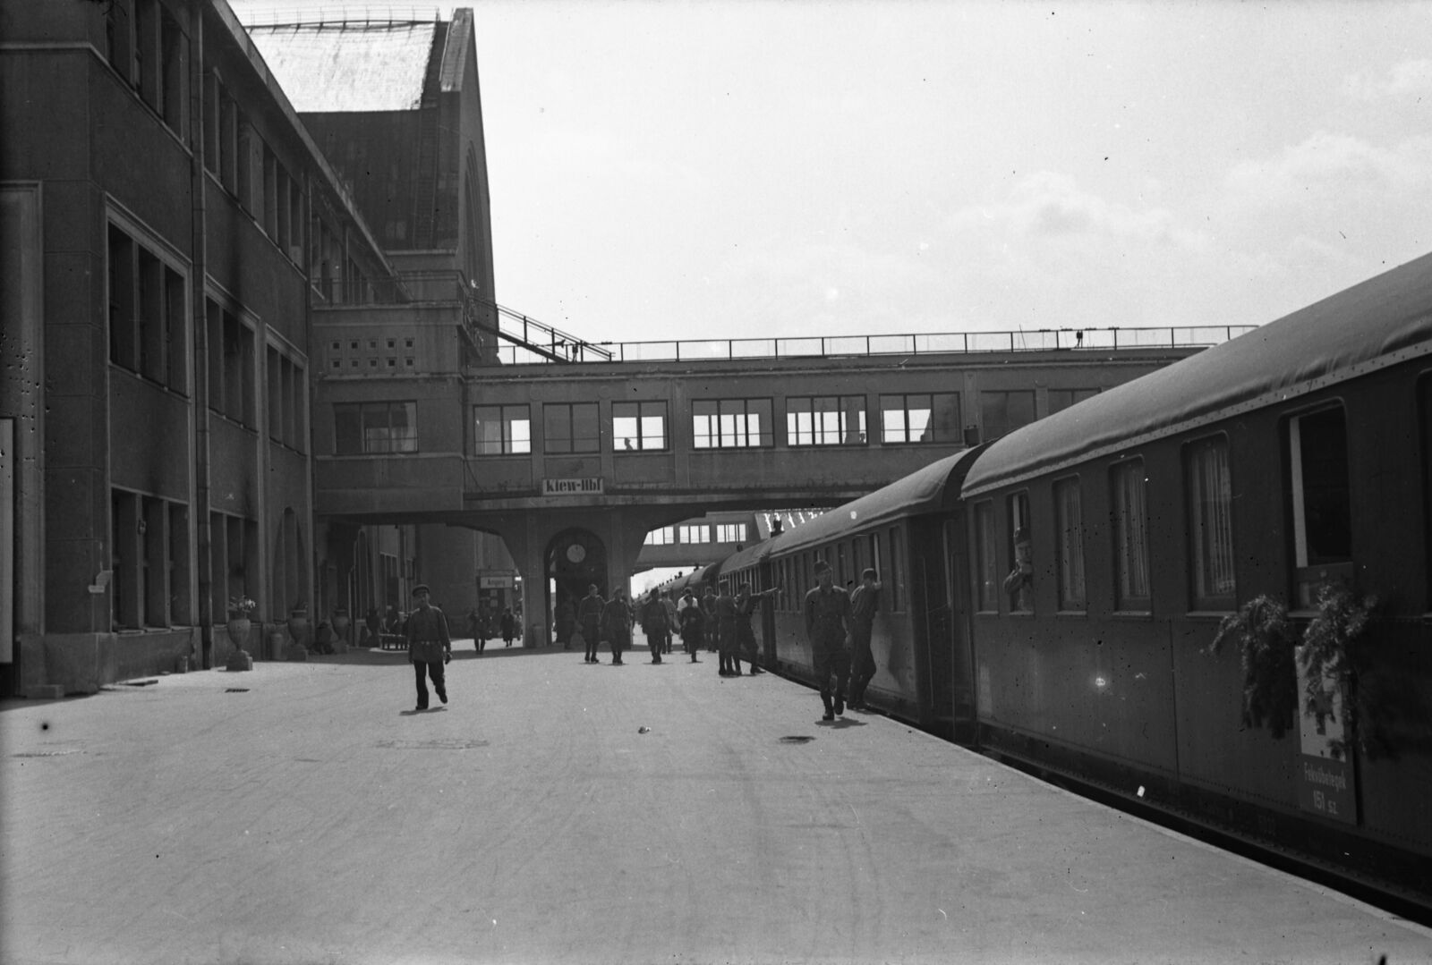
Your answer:
[[[875,570],[865,570],[861,586],[846,593],[832,586],[831,567],[823,561],[816,563],[815,577],[816,587],[805,596],[805,626],[825,707],[823,719],[835,720],[845,713],[846,703],[852,709],[866,709],[865,689],[875,676],[871,629],[881,584]],[[715,650],[720,657],[719,676],[742,676],[742,660],[750,664],[746,673],[753,676],[765,671],[750,619],[779,593],[779,587],[753,593],[750,584],[743,583],[735,596],[727,590],[717,594],[713,587],[706,587],[706,594],[697,600],[687,587],[679,600],[673,600],[670,591],[652,590],[640,604],[633,606],[627,603],[624,590],[604,600],[593,584],[576,607],[570,603],[558,607],[557,637],[567,650],[581,643],[586,663],[600,663],[597,647],[606,641],[611,663],[621,664],[621,654],[632,649],[632,629],[640,626],[652,663],[662,663],[663,656],[670,656],[673,640],[680,637],[692,663],[700,663],[696,657],[700,650]]]

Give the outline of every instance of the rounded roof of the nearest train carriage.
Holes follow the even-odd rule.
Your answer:
[[[964,495],[1432,352],[1432,255],[1031,422],[969,470]]]

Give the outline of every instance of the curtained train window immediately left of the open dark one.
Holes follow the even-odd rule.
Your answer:
[[[1229,441],[1217,437],[1190,444],[1184,454],[1184,475],[1193,607],[1232,610],[1236,604],[1236,587]]]

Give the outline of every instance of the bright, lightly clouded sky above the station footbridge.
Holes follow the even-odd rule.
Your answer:
[[[453,6],[497,301],[589,341],[1256,325],[1432,249],[1432,1]]]

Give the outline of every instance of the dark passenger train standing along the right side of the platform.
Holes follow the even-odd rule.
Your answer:
[[[813,561],[842,586],[875,566],[871,703],[1038,773],[1390,878],[1432,908],[1429,537],[1425,256],[706,576],[782,587],[763,657],[809,679]],[[1310,714],[1282,736],[1244,726],[1237,650],[1210,653],[1247,600],[1286,601],[1300,627],[1325,583],[1380,601],[1360,686],[1412,697],[1398,753],[1339,760]]]

